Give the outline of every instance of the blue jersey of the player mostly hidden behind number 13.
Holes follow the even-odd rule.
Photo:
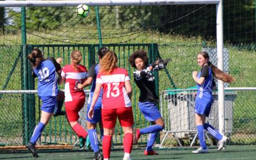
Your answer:
[[[91,88],[90,96],[89,96],[89,99],[88,99],[88,104],[91,104],[91,102],[92,102],[93,93],[94,93],[95,87],[96,87],[96,77],[97,77],[97,74],[99,73],[99,68],[100,68],[99,64],[94,64],[94,65],[92,65],[92,67],[90,68],[89,73],[88,73],[88,77],[93,78],[92,88]],[[100,95],[99,95],[99,98],[98,98],[96,104],[98,104],[98,103],[101,104],[102,93],[103,93],[103,91],[101,89]]]

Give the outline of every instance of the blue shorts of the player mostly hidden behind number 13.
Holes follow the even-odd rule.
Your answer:
[[[101,120],[101,99],[97,100],[97,102],[95,103],[94,105],[94,108],[93,108],[93,117],[92,119],[90,119],[88,117],[88,111],[89,109],[91,108],[91,104],[88,104],[87,106],[87,114],[86,114],[86,120],[92,124],[97,124],[98,122],[100,122]]]

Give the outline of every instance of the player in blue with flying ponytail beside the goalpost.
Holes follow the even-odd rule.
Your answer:
[[[210,124],[205,123],[205,117],[209,116],[211,106],[213,102],[212,89],[216,88],[213,77],[220,79],[221,81],[231,83],[234,81],[234,77],[219,70],[216,66],[212,65],[209,61],[209,55],[207,52],[199,52],[197,55],[197,63],[201,68],[200,72],[193,71],[193,79],[196,82],[197,93],[195,100],[195,120],[198,132],[198,139],[200,142],[200,148],[193,150],[193,153],[207,153],[208,149],[205,143],[204,129],[208,131],[212,136],[218,139],[219,147],[221,150],[225,147],[227,137],[216,131]]]

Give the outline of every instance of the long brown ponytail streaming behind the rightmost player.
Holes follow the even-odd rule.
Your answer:
[[[212,68],[214,77],[216,77],[217,79],[220,79],[223,82],[227,82],[227,83],[232,83],[236,80],[234,77],[230,76],[230,74],[227,74],[226,72],[223,72],[215,65],[212,65],[211,61],[209,61],[209,54],[207,52],[199,52],[198,54],[201,54],[205,58],[205,60],[207,60],[209,67]]]

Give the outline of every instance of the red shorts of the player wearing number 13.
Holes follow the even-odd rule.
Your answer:
[[[134,124],[132,107],[101,110],[102,124],[106,129],[115,128],[116,118],[122,127],[131,127]]]

